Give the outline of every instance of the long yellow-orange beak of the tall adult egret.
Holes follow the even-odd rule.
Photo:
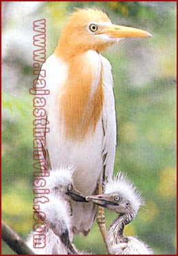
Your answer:
[[[103,31],[102,31],[103,30]],[[107,34],[112,39],[125,37],[151,37],[147,31],[139,30],[138,28],[125,27],[123,25],[104,25],[100,34]]]

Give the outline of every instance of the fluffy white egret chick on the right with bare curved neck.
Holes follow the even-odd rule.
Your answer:
[[[149,246],[140,239],[123,235],[125,225],[136,217],[138,209],[143,204],[140,193],[123,173],[118,173],[113,180],[110,178],[105,184],[103,195],[91,195],[86,199],[118,213],[107,233],[107,248],[110,254],[153,254]]]

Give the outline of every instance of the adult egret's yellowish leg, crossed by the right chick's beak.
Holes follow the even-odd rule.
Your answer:
[[[101,182],[98,182],[97,193],[98,194],[103,194],[103,186],[102,186]],[[101,235],[103,237],[103,241],[105,243],[107,253],[110,254],[109,250],[108,250],[108,247],[107,247],[107,241],[106,241],[107,230],[106,230],[106,227],[105,227],[105,212],[104,212],[103,207],[101,207],[101,206],[98,206],[97,223],[99,225],[99,230],[100,230]]]

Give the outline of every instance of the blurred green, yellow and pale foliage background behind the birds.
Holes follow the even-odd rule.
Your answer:
[[[32,229],[33,21],[47,19],[47,56],[74,7],[97,7],[113,23],[147,30],[103,55],[112,64],[117,116],[114,172],[127,173],[146,201],[126,235],[155,254],[176,254],[176,2],[2,3],[2,218],[24,239]],[[116,215],[106,211],[107,226]],[[105,254],[97,224],[79,249]],[[13,254],[4,243],[2,254]]]

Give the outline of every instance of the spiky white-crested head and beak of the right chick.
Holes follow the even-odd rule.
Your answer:
[[[140,193],[136,191],[136,187],[123,173],[118,173],[114,179],[110,178],[108,180],[105,184],[104,194],[91,195],[86,200],[99,204],[120,215],[132,213],[134,216],[144,203]]]

